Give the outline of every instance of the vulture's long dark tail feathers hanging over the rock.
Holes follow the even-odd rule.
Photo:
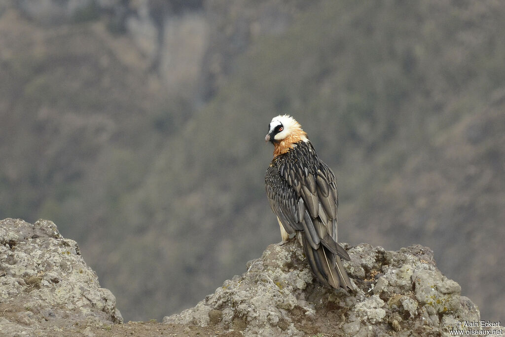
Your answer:
[[[312,248],[301,231],[296,234],[312,271],[321,283],[333,288],[342,287],[349,291],[354,290],[339,256],[330,252],[322,244],[318,249]]]

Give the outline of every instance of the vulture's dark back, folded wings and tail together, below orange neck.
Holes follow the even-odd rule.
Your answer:
[[[341,258],[350,260],[349,255],[337,243],[335,176],[319,161],[312,145],[296,149],[300,150],[298,155],[282,160],[275,169],[277,177],[283,177],[284,181],[275,178],[274,172],[271,172],[273,178],[267,180],[272,210],[286,232],[296,231],[316,277],[327,286],[352,290],[341,262]]]

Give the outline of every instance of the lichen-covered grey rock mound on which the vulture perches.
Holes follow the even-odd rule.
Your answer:
[[[448,334],[457,321],[479,321],[478,308],[436,268],[429,248],[344,247],[353,294],[320,285],[296,242],[270,245],[242,276],[163,323],[245,335],[424,336]]]

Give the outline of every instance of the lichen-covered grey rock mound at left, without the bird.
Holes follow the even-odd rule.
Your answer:
[[[122,321],[114,295],[100,287],[77,243],[63,238],[53,222],[0,221],[2,335],[47,335]]]

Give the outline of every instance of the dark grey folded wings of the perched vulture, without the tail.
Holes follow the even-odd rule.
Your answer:
[[[267,170],[265,183],[272,210],[288,234],[302,230],[313,249],[322,243],[333,254],[350,260],[337,244],[335,175],[314,153],[299,151],[297,155],[297,159],[278,161],[278,166],[271,164]]]

